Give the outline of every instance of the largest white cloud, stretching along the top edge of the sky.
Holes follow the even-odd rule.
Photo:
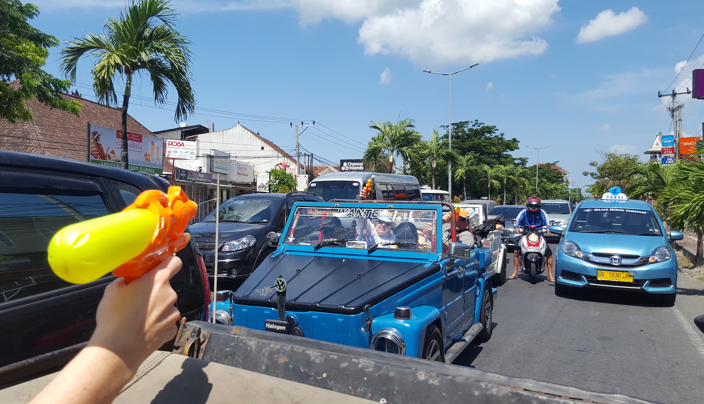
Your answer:
[[[179,13],[293,8],[301,25],[326,19],[361,24],[367,55],[408,58],[416,65],[470,64],[539,55],[536,34],[553,23],[559,0],[172,0]],[[34,0],[51,8],[124,8],[124,0]]]

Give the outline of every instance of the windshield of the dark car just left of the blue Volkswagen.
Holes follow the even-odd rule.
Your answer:
[[[234,196],[220,205],[220,222],[271,222],[275,198],[257,196]],[[201,222],[215,222],[215,210],[203,217]]]

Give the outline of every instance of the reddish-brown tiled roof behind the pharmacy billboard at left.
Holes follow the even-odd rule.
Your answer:
[[[16,82],[15,80],[11,85],[16,86]],[[25,105],[32,112],[34,120],[18,122],[14,125],[0,120],[0,149],[87,161],[89,123],[122,129],[120,108],[104,106],[73,94],[62,94],[61,98],[80,102],[82,104],[80,117],[49,108],[34,98],[27,100]],[[127,131],[153,136],[146,127],[130,115],[127,115]],[[164,171],[166,170],[166,164],[164,164]]]

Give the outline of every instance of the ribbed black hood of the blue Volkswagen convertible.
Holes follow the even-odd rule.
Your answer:
[[[273,286],[281,275],[287,282],[287,309],[357,314],[440,270],[438,264],[425,264],[282,253],[257,267],[234,293],[234,302],[276,307]]]

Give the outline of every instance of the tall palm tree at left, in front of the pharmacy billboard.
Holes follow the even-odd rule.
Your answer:
[[[71,82],[76,81],[78,61],[84,55],[96,56],[93,87],[99,101],[118,105],[115,75],[125,80],[122,94],[122,168],[130,167],[127,158],[127,107],[130,105],[135,73],[149,75],[154,101],[163,105],[168,83],[176,89],[175,120],[184,120],[194,111],[196,101],[190,83],[190,42],[173,25],[175,11],[166,0],[132,0],[120,18],[105,23],[105,34],[87,34],[61,51],[61,68]]]

